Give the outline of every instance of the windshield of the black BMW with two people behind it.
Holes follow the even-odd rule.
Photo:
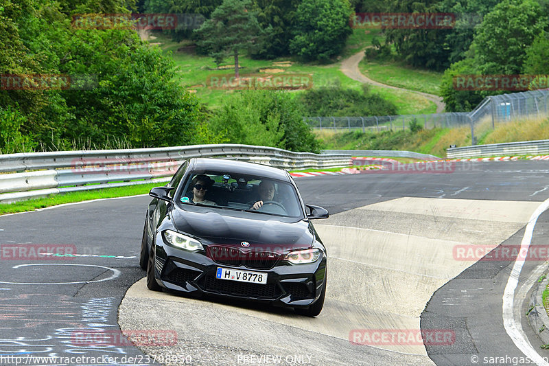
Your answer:
[[[294,186],[288,182],[264,176],[209,171],[189,174],[181,184],[183,189],[176,198],[179,203],[303,217],[299,197]]]

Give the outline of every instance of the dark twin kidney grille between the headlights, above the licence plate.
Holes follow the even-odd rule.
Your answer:
[[[281,254],[270,251],[244,252],[233,247],[211,245],[208,255],[214,262],[229,266],[246,266],[254,269],[270,269],[281,259]]]

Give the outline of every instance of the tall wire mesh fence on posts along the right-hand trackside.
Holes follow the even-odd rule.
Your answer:
[[[473,144],[475,128],[482,121],[509,122],[519,118],[548,115],[549,89],[524,91],[484,98],[471,112],[434,113],[421,115],[386,115],[370,117],[303,117],[312,128],[320,130],[406,130],[412,122],[430,129],[435,127],[471,127]]]

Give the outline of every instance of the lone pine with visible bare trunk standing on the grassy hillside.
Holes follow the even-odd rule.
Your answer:
[[[257,11],[253,10],[250,0],[224,0],[211,13],[211,19],[202,23],[195,32],[200,38],[198,45],[208,49],[208,54],[218,65],[225,57],[234,56],[235,77],[238,78],[240,52],[264,47],[264,39],[270,31],[270,27],[262,29],[259,26]]]

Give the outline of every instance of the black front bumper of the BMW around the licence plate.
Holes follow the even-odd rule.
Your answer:
[[[269,269],[229,266],[214,262],[205,251],[177,249],[156,236],[155,278],[161,286],[195,295],[215,295],[267,302],[274,306],[307,308],[325,286],[326,256],[310,264],[290,264],[279,260]],[[267,284],[218,279],[218,268],[266,273]]]

